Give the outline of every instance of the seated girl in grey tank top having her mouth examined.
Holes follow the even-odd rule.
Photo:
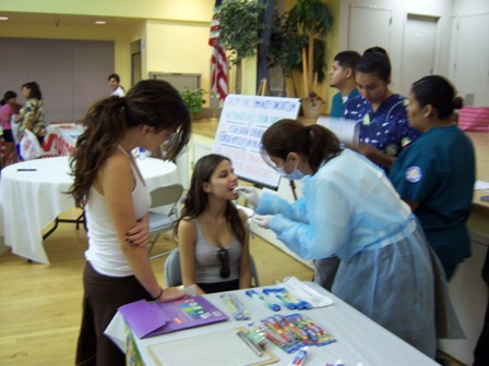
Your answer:
[[[196,162],[176,224],[184,286],[213,293],[251,286],[247,215],[236,208],[231,161],[211,154]]]

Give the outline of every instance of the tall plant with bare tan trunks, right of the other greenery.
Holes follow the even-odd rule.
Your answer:
[[[298,0],[297,4],[290,9],[287,22],[288,26],[296,26],[303,41],[302,82],[307,97],[302,99],[302,110],[305,114],[309,114],[307,109],[311,107],[314,109],[313,114],[306,117],[318,117],[323,101],[314,91],[314,78],[318,83],[325,78],[324,36],[331,29],[333,17],[327,5],[321,0]]]

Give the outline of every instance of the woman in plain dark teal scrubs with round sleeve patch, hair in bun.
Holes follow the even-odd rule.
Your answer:
[[[397,157],[389,174],[418,217],[449,280],[456,266],[470,256],[466,222],[475,156],[470,139],[455,123],[453,111],[461,107],[462,99],[443,76],[430,75],[414,83],[407,118],[422,135]]]

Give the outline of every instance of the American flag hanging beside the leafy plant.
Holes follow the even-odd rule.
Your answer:
[[[226,51],[219,38],[219,10],[222,0],[216,0],[211,22],[211,36],[208,45],[212,47],[211,59],[211,90],[216,91],[224,101],[227,95],[227,59]]]

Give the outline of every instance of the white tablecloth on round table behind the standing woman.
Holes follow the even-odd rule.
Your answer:
[[[179,182],[177,167],[172,162],[153,158],[136,161],[150,191]],[[73,182],[69,171],[68,157],[24,161],[2,170],[0,217],[3,216],[4,244],[12,247],[12,253],[49,264],[41,230],[74,206],[73,199],[63,193]]]

